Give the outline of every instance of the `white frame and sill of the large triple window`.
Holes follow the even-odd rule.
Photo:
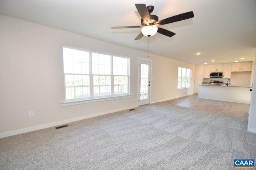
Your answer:
[[[72,50],[79,50],[79,51],[85,51],[89,53],[89,74],[76,74],[76,73],[65,73],[64,70],[64,48],[72,49]],[[92,74],[92,53],[97,53],[101,55],[109,55],[110,56],[110,74]],[[127,75],[114,75],[113,74],[113,58],[114,57],[120,57],[127,59]],[[102,53],[98,51],[91,51],[88,49],[81,49],[77,47],[70,47],[70,46],[63,46],[62,47],[62,65],[63,65],[63,74],[64,74],[64,91],[65,91],[65,96],[64,96],[64,101],[62,102],[62,106],[69,106],[72,105],[70,103],[72,102],[78,102],[79,104],[82,103],[90,103],[90,102],[98,102],[98,101],[104,101],[104,100],[113,100],[112,98],[123,98],[123,97],[130,97],[130,57],[124,57],[120,55],[113,55],[109,53]],[[72,61],[73,62],[73,61]],[[90,91],[90,96],[89,97],[82,97],[82,98],[71,98],[67,99],[67,88],[66,88],[66,75],[88,75],[89,76],[89,91]],[[110,95],[103,95],[103,96],[94,96],[94,76],[110,76]],[[126,93],[118,93],[114,94],[114,77],[115,76],[126,76],[127,77],[127,92]],[[75,94],[75,92],[74,92]],[[72,95],[74,95],[72,94]],[[84,102],[83,102],[84,101]],[[81,103],[82,102],[82,103]]]

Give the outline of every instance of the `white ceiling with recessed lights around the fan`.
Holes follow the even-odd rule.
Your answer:
[[[0,0],[0,14],[147,51],[147,37],[134,41],[140,28],[111,29],[140,25],[134,4],[154,6],[159,20],[194,12],[160,25],[176,35],[150,37],[150,53],[192,64],[255,60],[256,0]]]

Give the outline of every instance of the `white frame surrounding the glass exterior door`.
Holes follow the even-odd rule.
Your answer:
[[[141,57],[138,57],[138,63],[137,63],[137,66],[138,66],[138,76],[137,76],[137,106],[139,106],[139,100],[140,100],[140,60],[142,61],[148,61],[150,62],[150,77],[149,77],[149,80],[150,80],[150,88],[149,88],[149,104],[151,104],[151,89],[152,89],[152,63],[153,61],[150,60],[150,59],[145,59],[145,58],[141,58]]]

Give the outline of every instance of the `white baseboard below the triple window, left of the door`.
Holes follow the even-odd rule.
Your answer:
[[[106,114],[114,113],[114,112],[117,112],[117,111],[132,109],[134,107],[138,107],[138,105],[123,107],[123,108],[120,108],[120,109],[115,109],[115,110],[110,110],[110,111],[104,111],[104,112],[101,112],[101,113],[94,113],[92,115],[85,115],[85,116],[76,117],[76,118],[73,118],[73,119],[57,121],[57,122],[48,123],[48,124],[39,125],[39,126],[34,126],[34,127],[28,127],[28,128],[19,129],[19,130],[16,130],[16,131],[0,133],[0,138],[13,136],[13,135],[18,135],[18,134],[22,134],[22,133],[27,133],[27,132],[31,132],[31,131],[37,131],[37,130],[40,130],[40,129],[45,129],[45,128],[49,128],[49,127],[63,125],[63,124],[66,124],[66,123],[71,123],[71,122],[74,122],[74,121],[80,121],[80,120],[83,120],[83,119],[89,119],[89,118],[92,118],[92,117],[106,115]]]

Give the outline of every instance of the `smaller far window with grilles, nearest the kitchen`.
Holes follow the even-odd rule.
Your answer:
[[[191,72],[189,68],[178,68],[178,89],[191,87]]]

